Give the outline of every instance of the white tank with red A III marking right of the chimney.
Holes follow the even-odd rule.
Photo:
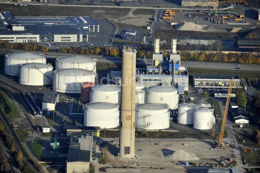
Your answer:
[[[170,110],[178,107],[179,93],[170,86],[152,86],[146,89],[145,102],[168,104]]]

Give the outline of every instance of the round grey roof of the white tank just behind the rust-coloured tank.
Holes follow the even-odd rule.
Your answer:
[[[84,70],[80,68],[64,68],[64,69],[57,69],[53,73],[59,75],[65,75],[65,76],[84,76],[84,75],[92,74],[92,71]]]

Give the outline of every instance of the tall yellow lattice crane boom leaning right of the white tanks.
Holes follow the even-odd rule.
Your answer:
[[[220,134],[218,136],[218,141],[217,141],[215,148],[222,148],[222,146],[223,146],[222,142],[223,142],[223,136],[224,136],[224,131],[225,131],[225,127],[226,127],[226,120],[227,120],[227,116],[228,116],[228,107],[229,107],[229,101],[230,101],[230,97],[231,97],[232,86],[233,86],[233,78],[231,78],[231,80],[229,82],[225,111],[224,111],[224,115],[223,115],[223,118],[222,118]]]

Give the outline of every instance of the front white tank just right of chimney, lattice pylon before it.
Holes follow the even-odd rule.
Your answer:
[[[138,129],[167,129],[170,111],[166,104],[144,103],[136,105],[135,126]]]

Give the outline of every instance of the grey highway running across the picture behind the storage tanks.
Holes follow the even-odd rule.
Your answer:
[[[113,56],[102,56],[102,55],[82,55],[82,54],[68,54],[68,53],[55,53],[55,52],[39,52],[39,51],[25,51],[25,50],[12,50],[12,49],[0,49],[0,54],[5,55],[8,53],[14,52],[35,52],[43,53],[47,58],[57,58],[60,56],[69,56],[69,55],[81,55],[81,56],[90,56],[97,58],[99,62],[113,62],[113,63],[122,63],[121,57]],[[147,65],[152,65],[152,59],[146,59]],[[140,59],[137,59],[136,62],[140,64]],[[144,64],[144,62],[142,62]],[[219,63],[219,62],[198,62],[198,61],[181,61],[181,66],[184,67],[194,67],[194,68],[212,68],[212,69],[230,69],[230,70],[247,70],[247,71],[260,71],[260,65],[255,64],[240,64],[237,66],[235,63]],[[241,68],[241,69],[235,69]]]

